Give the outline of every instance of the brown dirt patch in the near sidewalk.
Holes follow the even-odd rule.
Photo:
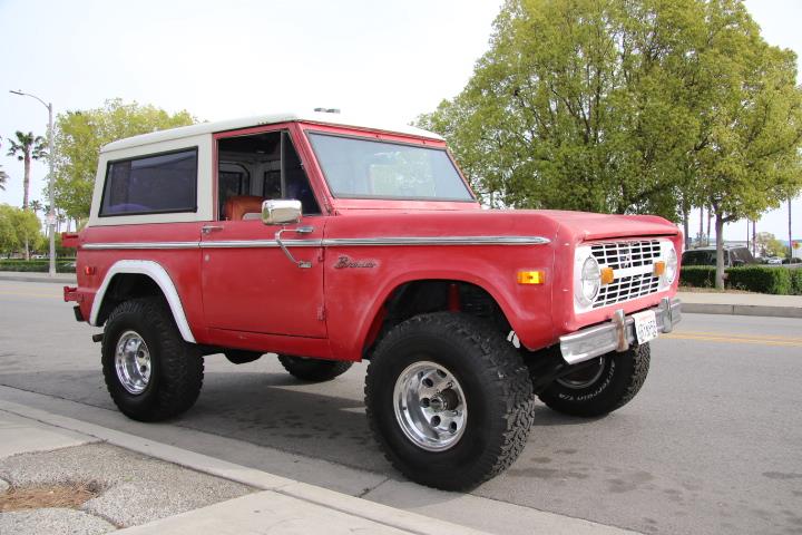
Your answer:
[[[77,509],[101,492],[102,486],[94,481],[10,487],[0,494],[0,513],[43,507]]]

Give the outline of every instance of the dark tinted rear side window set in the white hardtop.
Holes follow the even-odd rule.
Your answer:
[[[197,211],[197,147],[109,162],[100,216]]]

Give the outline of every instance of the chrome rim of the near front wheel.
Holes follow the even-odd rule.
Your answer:
[[[446,367],[415,362],[395,380],[395,420],[412,444],[428,451],[453,447],[464,434],[468,405],[457,378]]]

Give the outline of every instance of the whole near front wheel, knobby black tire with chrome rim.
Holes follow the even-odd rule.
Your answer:
[[[463,490],[509,467],[526,446],[535,400],[522,359],[475,318],[422,314],[397,325],[368,367],[370,427],[413,481]]]

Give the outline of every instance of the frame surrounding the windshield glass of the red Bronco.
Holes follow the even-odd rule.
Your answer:
[[[316,126],[316,125],[315,125]],[[317,169],[320,171],[320,175],[323,178],[323,182],[325,183],[326,189],[329,191],[329,194],[332,198],[332,201],[362,201],[362,202],[385,202],[385,203],[456,203],[456,204],[464,204],[464,205],[475,205],[477,204],[477,197],[473,193],[473,189],[470,187],[470,184],[466,179],[466,177],[462,175],[460,168],[457,166],[457,163],[454,162],[453,157],[451,156],[451,153],[448,150],[448,147],[444,143],[437,143],[437,144],[430,144],[424,140],[414,140],[414,139],[399,139],[397,136],[392,136],[392,138],[389,138],[384,135],[376,135],[372,133],[344,133],[342,130],[330,130],[327,128],[304,128],[304,134],[306,137],[306,143],[309,144],[310,150],[312,152],[312,155],[314,157],[315,164]],[[420,148],[424,150],[439,150],[442,152],[446,155],[446,158],[448,159],[448,163],[453,168],[454,173],[459,177],[459,179],[462,182],[462,186],[466,188],[466,193],[468,194],[468,198],[453,198],[453,197],[429,197],[429,196],[389,196],[389,195],[359,195],[359,194],[342,194],[336,193],[331,185],[331,182],[329,181],[329,177],[326,176],[326,169],[319,157],[317,150],[315,150],[313,135],[320,135],[320,136],[326,136],[326,137],[340,137],[340,138],[346,138],[346,139],[356,139],[360,142],[370,142],[370,143],[381,143],[384,145],[399,145],[399,146],[405,146],[405,147],[414,147]]]

